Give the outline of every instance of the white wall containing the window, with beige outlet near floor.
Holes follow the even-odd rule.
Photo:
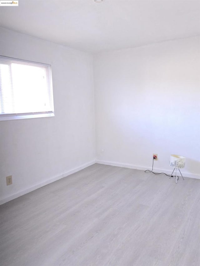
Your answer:
[[[3,203],[94,163],[95,131],[93,57],[3,28],[0,36],[1,55],[52,65],[55,109],[55,117],[0,122]]]

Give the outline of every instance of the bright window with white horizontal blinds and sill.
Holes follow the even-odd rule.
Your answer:
[[[0,120],[54,116],[51,66],[0,56]]]

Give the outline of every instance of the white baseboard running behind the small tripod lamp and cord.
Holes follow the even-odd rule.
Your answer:
[[[107,161],[96,160],[96,163],[105,164],[105,165],[112,165],[112,166],[118,166],[118,167],[131,168],[131,169],[137,169],[137,170],[152,170],[152,168],[149,168],[149,167],[135,166],[135,165],[131,165],[131,164],[118,163],[118,162],[107,162]],[[172,173],[172,171],[173,171],[173,168],[172,168],[172,171],[165,170],[165,169],[158,169],[158,168],[154,168],[153,171],[157,172],[157,173],[164,172],[164,173],[170,175]],[[187,172],[183,172],[182,170],[181,170],[181,173],[182,173],[183,177],[190,177],[190,178],[200,179],[200,176],[196,175],[196,174],[190,174],[190,173],[187,173]]]

